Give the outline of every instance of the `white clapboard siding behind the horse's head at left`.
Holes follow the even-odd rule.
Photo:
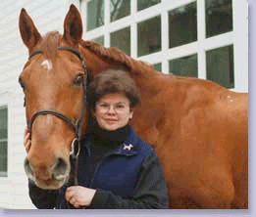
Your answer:
[[[69,0],[0,0],[0,100],[8,104],[8,177],[0,177],[0,208],[34,208],[28,196],[23,162],[26,152],[23,133],[26,124],[23,93],[18,77],[27,60],[26,46],[19,30],[22,8],[41,34],[50,30],[63,33]]]

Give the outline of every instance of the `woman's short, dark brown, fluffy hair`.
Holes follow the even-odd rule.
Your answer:
[[[130,108],[134,108],[140,97],[134,80],[127,71],[120,69],[107,69],[97,74],[87,89],[87,102],[90,109],[95,109],[96,102],[107,94],[125,93]]]

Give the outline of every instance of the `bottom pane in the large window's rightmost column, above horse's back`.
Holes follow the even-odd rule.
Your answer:
[[[233,88],[233,46],[208,51],[206,60],[207,79],[227,88]]]

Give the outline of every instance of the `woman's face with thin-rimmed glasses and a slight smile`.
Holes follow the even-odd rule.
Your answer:
[[[104,130],[115,131],[128,124],[133,110],[129,107],[129,100],[124,93],[104,95],[96,103],[93,112],[96,121]]]

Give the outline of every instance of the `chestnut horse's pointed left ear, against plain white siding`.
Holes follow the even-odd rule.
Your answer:
[[[41,39],[41,35],[24,8],[20,14],[19,26],[23,41],[30,51]]]

